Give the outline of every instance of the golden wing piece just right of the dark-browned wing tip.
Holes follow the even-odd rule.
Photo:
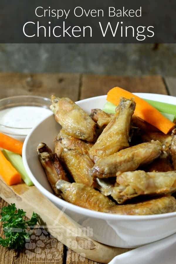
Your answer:
[[[62,152],[62,162],[75,182],[92,186],[93,178],[90,176],[89,171],[94,163],[87,154],[79,153],[76,150],[64,149]]]

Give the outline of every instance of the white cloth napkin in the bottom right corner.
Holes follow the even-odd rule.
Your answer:
[[[116,263],[176,264],[176,234],[118,255],[109,262]]]

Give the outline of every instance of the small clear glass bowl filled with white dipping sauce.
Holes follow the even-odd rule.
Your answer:
[[[19,120],[18,126],[13,126],[13,122],[12,122],[13,120],[8,119],[7,120],[8,125],[7,125],[6,124],[7,122],[4,123],[4,121],[2,121],[3,120],[2,117],[3,117],[4,113],[8,112],[8,109],[9,109],[9,111],[13,111],[12,108],[18,107],[18,106],[43,107],[45,109],[48,109],[48,111],[42,112],[43,114],[41,116],[41,119],[38,120],[40,122],[43,118],[46,118],[47,116],[49,116],[52,113],[52,111],[49,110],[50,104],[51,104],[51,101],[49,98],[40,97],[40,96],[31,96],[31,95],[13,96],[13,97],[7,97],[4,99],[1,99],[0,100],[0,132],[5,133],[6,135],[9,135],[9,136],[16,138],[18,140],[24,141],[26,136],[28,135],[28,133],[33,128],[33,126],[31,126],[31,124],[29,126],[27,124],[23,126],[22,125],[22,123],[23,123],[22,119]],[[28,108],[28,109],[30,110],[30,108]],[[24,110],[24,108],[22,110]],[[33,111],[31,111],[31,113],[33,115],[34,115],[34,110],[37,111],[38,108],[36,108],[36,109],[33,108]],[[28,111],[28,110],[26,110],[26,111]],[[26,113],[24,113],[24,115],[23,115],[24,119],[27,118],[27,115],[25,116],[25,114]],[[29,113],[29,116],[30,116],[30,113]],[[33,117],[35,119],[36,116],[34,115]],[[33,117],[30,116],[31,119]],[[22,118],[22,116],[21,116],[21,118]],[[38,118],[39,118],[39,116],[38,116]],[[4,120],[5,120],[5,116],[4,116]],[[12,125],[11,125],[11,123],[12,123]],[[24,123],[27,123],[27,122],[24,122]],[[36,125],[36,123],[35,123],[35,125]]]

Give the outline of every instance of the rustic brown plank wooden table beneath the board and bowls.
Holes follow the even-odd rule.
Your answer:
[[[106,94],[114,86],[123,87],[131,92],[170,94],[176,96],[175,81],[176,78],[174,77],[163,78],[159,75],[121,77],[62,73],[0,73],[0,98],[14,95],[50,97],[51,94],[55,94],[58,97],[70,97],[72,100],[77,101]],[[7,203],[0,198],[0,208],[6,205]],[[0,236],[2,233],[0,224]],[[37,242],[37,236],[35,234],[34,242]],[[67,249],[62,243],[50,237],[45,231],[44,236],[45,240],[43,240],[43,244],[41,243],[41,250],[37,253],[33,251],[31,258],[26,254],[26,249],[23,252],[15,253],[12,250],[7,250],[0,246],[0,263],[95,263]]]

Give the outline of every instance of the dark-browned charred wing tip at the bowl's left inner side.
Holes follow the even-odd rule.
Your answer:
[[[61,179],[68,181],[68,178],[57,155],[53,155],[52,151],[45,143],[40,143],[38,145],[37,153],[53,191],[58,194],[58,190],[55,187],[56,182]]]

